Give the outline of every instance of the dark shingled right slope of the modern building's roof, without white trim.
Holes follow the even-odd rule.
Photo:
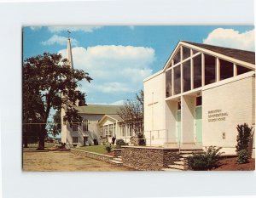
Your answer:
[[[247,63],[251,63],[251,64],[255,65],[255,52],[236,49],[236,48],[218,47],[218,46],[214,46],[214,45],[207,45],[207,44],[201,44],[201,43],[196,43],[196,42],[187,42],[187,41],[182,41],[182,42],[186,42],[191,45],[195,45],[200,48],[205,48],[205,49],[211,50],[212,52],[215,52],[218,54],[224,54],[231,58],[239,59],[241,61],[245,61]]]

